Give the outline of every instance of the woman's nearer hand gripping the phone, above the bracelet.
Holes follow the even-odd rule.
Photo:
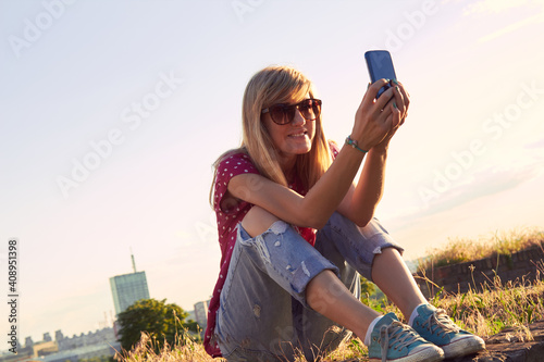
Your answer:
[[[357,140],[359,148],[363,150],[370,150],[380,143],[400,124],[399,108],[404,109],[404,104],[396,103],[398,98],[395,98],[395,87],[391,87],[375,99],[380,88],[387,83],[386,79],[374,82],[367,89],[355,114],[351,138]]]

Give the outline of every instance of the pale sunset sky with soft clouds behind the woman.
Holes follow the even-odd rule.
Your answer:
[[[411,102],[375,216],[407,260],[543,229],[543,0],[0,0],[0,262],[8,280],[16,239],[20,340],[111,325],[131,251],[151,298],[211,296],[211,165],[271,64],[316,84],[342,143],[364,52],[392,53]]]

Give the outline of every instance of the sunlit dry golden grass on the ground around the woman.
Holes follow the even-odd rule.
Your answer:
[[[462,240],[460,249],[474,248],[472,251],[459,249],[460,241],[456,240],[449,245],[449,250],[443,249],[441,258],[444,260],[470,261],[499,253],[511,253],[528,247],[540,246],[542,248],[543,233],[526,230],[524,233],[508,233],[507,235],[495,235],[491,246],[484,242]],[[475,252],[478,251],[478,253]],[[491,252],[491,253],[490,253]],[[477,255],[470,258],[468,255]],[[433,258],[438,260],[438,254]],[[436,265],[436,264],[435,264]],[[484,285],[483,291],[477,292],[470,289],[465,294],[437,292],[430,301],[436,308],[442,308],[461,328],[474,333],[483,338],[493,336],[506,327],[514,327],[515,332],[507,338],[512,341],[532,340],[528,325],[536,320],[544,319],[544,263],[535,263],[537,269],[536,279],[529,282],[520,279],[503,284],[496,276],[493,285]],[[431,280],[428,280],[432,283]],[[440,287],[438,287],[440,288]],[[363,296],[361,301],[378,312],[385,314],[395,312],[401,320],[400,311],[385,297],[381,299]],[[406,321],[403,321],[406,323]],[[225,361],[209,357],[201,341],[191,337],[187,330],[183,330],[174,346],[164,346],[160,353],[153,351],[154,341],[146,333],[141,340],[131,351],[123,351],[115,355],[119,362],[173,362],[173,361]],[[367,361],[367,347],[358,338],[350,338],[334,352],[321,361]],[[297,362],[306,362],[304,358],[297,358]]]

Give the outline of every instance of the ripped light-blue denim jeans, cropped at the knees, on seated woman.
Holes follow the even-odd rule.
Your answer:
[[[334,350],[350,332],[308,305],[306,286],[332,270],[359,298],[358,273],[371,280],[374,255],[391,247],[403,252],[378,220],[361,228],[337,212],[314,247],[283,221],[255,238],[238,224],[215,325],[223,357],[293,361],[304,354],[313,361]]]

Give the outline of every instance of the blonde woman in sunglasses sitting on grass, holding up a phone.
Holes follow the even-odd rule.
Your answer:
[[[370,85],[339,149],[325,139],[321,101],[302,74],[270,66],[250,79],[242,146],[218,159],[210,192],[222,259],[208,353],[228,361],[299,354],[312,361],[348,330],[369,347],[371,361],[440,361],[484,348],[428,303],[403,249],[373,219],[387,148],[408,107],[397,80]],[[398,305],[409,326],[359,301],[358,273]]]

